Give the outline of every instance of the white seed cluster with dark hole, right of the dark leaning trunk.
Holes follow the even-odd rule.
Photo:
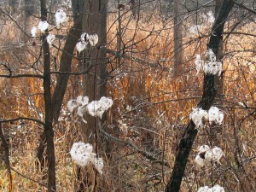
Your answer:
[[[218,147],[210,148],[208,145],[202,145],[199,148],[199,153],[195,156],[196,166],[202,168],[213,163],[219,163],[219,160],[223,156],[223,150]]]

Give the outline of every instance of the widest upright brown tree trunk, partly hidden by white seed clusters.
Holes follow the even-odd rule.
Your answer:
[[[99,37],[96,47],[91,47],[84,51],[84,69],[90,69],[84,74],[84,96],[89,96],[90,101],[99,100],[101,96],[106,96],[106,65],[107,65],[107,5],[108,0],[85,0],[83,32],[97,34]],[[86,124],[81,125],[84,142],[95,145],[97,154],[97,127],[96,118],[85,114]],[[103,119],[102,119],[103,120]],[[79,189],[77,191],[96,190],[97,173],[90,170],[79,170]]]

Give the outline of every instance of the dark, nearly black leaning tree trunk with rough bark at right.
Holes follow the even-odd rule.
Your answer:
[[[208,49],[212,49],[218,57],[219,44],[224,32],[224,23],[230,14],[230,10],[233,7],[233,3],[230,0],[226,0],[222,3],[218,17],[216,18],[214,25],[212,26],[212,36],[210,38]],[[214,75],[207,74],[204,77],[203,95],[201,102],[198,103],[198,108],[205,110],[209,109],[215,98],[216,90],[214,88]],[[190,120],[183,137],[180,140],[178,151],[176,155],[175,164],[172,170],[172,176],[169,183],[166,186],[167,192],[178,192],[182,183],[185,167],[189,158],[192,145],[194,143],[197,130],[192,120]]]

